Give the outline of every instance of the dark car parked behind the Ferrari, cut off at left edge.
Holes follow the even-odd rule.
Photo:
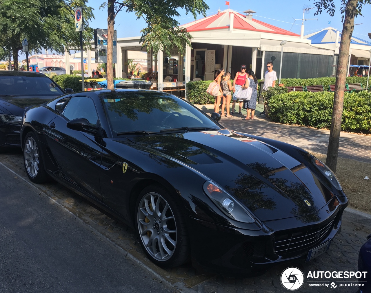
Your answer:
[[[72,89],[66,91],[73,92]],[[0,152],[6,147],[20,147],[20,124],[26,107],[65,93],[44,74],[0,71]]]

